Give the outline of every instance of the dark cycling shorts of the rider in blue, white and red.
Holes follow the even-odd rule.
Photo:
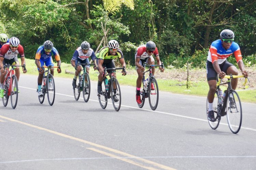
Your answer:
[[[233,64],[229,63],[227,60],[223,62],[222,64],[219,64],[219,68],[221,68],[221,71],[225,72],[227,74],[227,70],[230,66],[234,66]],[[206,62],[206,73],[207,73],[207,81],[210,80],[217,80],[218,81],[218,74],[214,70],[212,62],[208,61]]]

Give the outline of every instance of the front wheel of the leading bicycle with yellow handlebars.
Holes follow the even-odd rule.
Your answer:
[[[233,104],[230,98],[233,98]],[[242,105],[235,90],[229,93],[226,111],[229,129],[236,134],[239,132],[242,124]]]

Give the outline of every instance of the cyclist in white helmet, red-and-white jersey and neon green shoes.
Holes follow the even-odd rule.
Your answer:
[[[6,43],[2,46],[0,51],[0,68],[1,68],[1,75],[0,75],[0,83],[1,83],[1,92],[0,97],[3,98],[3,92],[4,92],[4,78],[6,74],[6,70],[3,69],[3,65],[5,64],[11,64],[11,65],[19,65],[18,57],[17,55],[20,55],[20,60],[22,62],[22,65],[25,64],[25,55],[24,55],[24,49],[22,45],[19,44],[19,39],[16,37],[12,37],[9,40],[9,43]],[[24,67],[22,67],[23,73],[26,73],[27,70],[24,70]],[[15,68],[15,75],[17,77],[17,81],[19,81],[19,67]],[[16,91],[16,87],[14,87],[14,90]],[[18,90],[19,92],[19,90]]]

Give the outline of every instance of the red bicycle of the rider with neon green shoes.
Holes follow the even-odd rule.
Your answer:
[[[9,70],[9,67],[12,67]],[[24,67],[26,70],[25,64],[23,66],[15,66],[10,64],[5,64],[3,66],[3,69],[6,69],[8,71],[5,79],[4,79],[4,96],[3,96],[3,105],[7,106],[9,97],[11,96],[11,104],[12,108],[16,108],[17,102],[18,102],[18,80],[15,75],[15,68],[16,67]]]

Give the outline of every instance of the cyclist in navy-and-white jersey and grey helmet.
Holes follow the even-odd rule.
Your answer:
[[[93,61],[96,60],[95,53],[94,53],[93,49],[90,48],[90,44],[87,41],[84,41],[81,44],[81,46],[75,50],[73,57],[71,59],[71,65],[76,70],[75,76],[74,76],[74,79],[72,82],[73,89],[75,89],[75,86],[76,86],[77,76],[79,75],[79,73],[82,70],[81,66],[76,67],[77,62],[79,62],[80,64],[86,64],[86,63],[89,64],[89,59],[88,59],[89,57],[91,57],[91,60],[93,60]],[[83,68],[84,68],[84,66],[83,66]],[[90,66],[86,66],[86,72],[88,74],[89,74],[89,69],[90,69]],[[86,94],[88,94],[88,90],[89,89],[86,88]]]

